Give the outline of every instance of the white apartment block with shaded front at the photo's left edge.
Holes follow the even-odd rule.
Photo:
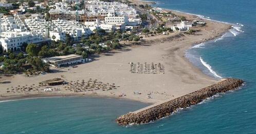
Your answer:
[[[31,32],[2,32],[0,34],[0,43],[6,51],[20,50],[23,43],[40,44],[49,41],[49,39],[45,39],[41,34],[32,34]]]

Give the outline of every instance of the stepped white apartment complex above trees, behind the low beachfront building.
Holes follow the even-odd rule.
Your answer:
[[[49,37],[54,41],[65,41],[66,34],[74,37],[74,40],[81,40],[82,36],[92,34],[93,30],[77,21],[67,20],[52,20],[46,21],[43,18],[29,18],[25,19],[25,24],[32,33],[41,33],[44,37]]]

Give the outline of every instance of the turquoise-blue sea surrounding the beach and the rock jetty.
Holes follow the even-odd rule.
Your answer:
[[[256,133],[256,1],[158,2],[162,8],[234,24],[238,30],[196,46],[186,56],[216,79],[241,78],[246,85],[169,118],[132,127],[118,126],[115,118],[148,104],[94,98],[1,102],[0,133]]]

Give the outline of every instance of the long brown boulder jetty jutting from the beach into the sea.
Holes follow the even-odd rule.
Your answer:
[[[239,79],[228,78],[211,86],[191,92],[182,97],[155,104],[135,112],[129,112],[116,119],[119,125],[144,124],[169,116],[179,108],[186,108],[198,104],[216,93],[235,90],[244,82]]]

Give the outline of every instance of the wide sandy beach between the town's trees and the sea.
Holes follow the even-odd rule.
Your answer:
[[[173,11],[174,12],[174,11]],[[174,12],[177,15],[184,15],[193,19],[194,15]],[[198,68],[194,67],[186,58],[185,51],[193,44],[206,42],[221,36],[230,29],[230,25],[204,20],[205,27],[195,27],[200,30],[195,35],[184,33],[171,33],[170,35],[158,35],[154,37],[144,37],[142,45],[125,46],[120,50],[94,55],[93,62],[78,65],[77,68],[51,68],[54,73],[40,74],[38,76],[25,76],[25,74],[15,74],[11,76],[1,76],[0,100],[18,99],[26,97],[61,96],[61,95],[96,95],[111,98],[132,99],[147,103],[157,103],[166,99],[172,99],[187,93],[199,90],[212,85],[217,80],[210,78]],[[131,64],[159,64],[164,67],[162,73],[132,73]],[[61,78],[64,75],[66,82],[78,82],[82,80],[97,81],[103,84],[113,84],[115,88],[111,90],[93,90],[75,92],[65,90],[67,85],[52,86],[58,88],[51,92],[31,90],[29,92],[7,92],[7,88],[19,88],[23,86],[36,87],[39,82]],[[48,86],[49,87],[49,86]],[[72,87],[72,85],[69,85]],[[79,88],[79,87],[78,87]],[[15,89],[15,90],[16,90]],[[150,94],[150,99],[149,95]],[[121,97],[120,97],[121,96]]]

